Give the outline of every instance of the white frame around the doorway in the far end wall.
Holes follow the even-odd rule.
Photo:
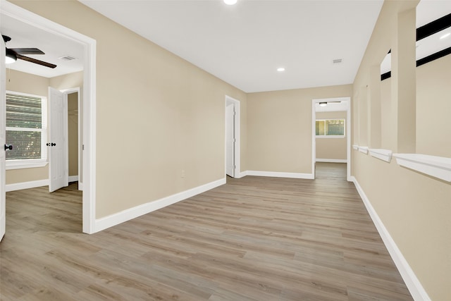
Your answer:
[[[311,100],[311,173],[315,178],[315,164],[316,164],[316,104],[320,102],[337,102],[338,100],[347,101],[346,109],[346,179],[351,179],[351,97],[331,97],[323,99]]]

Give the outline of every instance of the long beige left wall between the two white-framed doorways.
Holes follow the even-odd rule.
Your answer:
[[[245,121],[244,92],[78,1],[13,3],[97,40],[97,218],[225,177],[225,97]]]

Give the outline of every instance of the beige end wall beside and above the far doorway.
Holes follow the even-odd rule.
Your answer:
[[[247,94],[248,169],[312,173],[311,101],[351,95],[352,85]]]

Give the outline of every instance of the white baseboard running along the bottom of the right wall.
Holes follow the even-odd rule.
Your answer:
[[[400,271],[401,277],[406,283],[412,297],[414,298],[414,300],[418,301],[430,301],[431,298],[428,296],[428,293],[426,293],[426,290],[424,290],[423,285],[421,285],[418,278],[416,278],[414,271],[412,271],[409,263],[402,255],[400,249],[397,247],[395,240],[393,240],[393,238],[390,236],[390,233],[388,233],[387,228],[385,228],[385,226],[383,225],[381,219],[376,213],[376,210],[374,210],[371,202],[369,202],[368,197],[366,197],[364,190],[359,185],[359,182],[357,182],[357,179],[354,178],[354,176],[352,176],[351,178],[354,182],[355,187],[357,188],[357,192],[359,192],[360,197],[362,197],[366,210],[371,216],[371,219],[373,220],[373,223],[376,226],[379,235],[381,235],[385,247],[387,247],[387,250],[392,257],[393,262],[395,262],[398,271]]]

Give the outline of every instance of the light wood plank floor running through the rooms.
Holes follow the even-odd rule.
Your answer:
[[[345,173],[228,178],[93,235],[75,185],[8,192],[1,300],[412,300]]]

